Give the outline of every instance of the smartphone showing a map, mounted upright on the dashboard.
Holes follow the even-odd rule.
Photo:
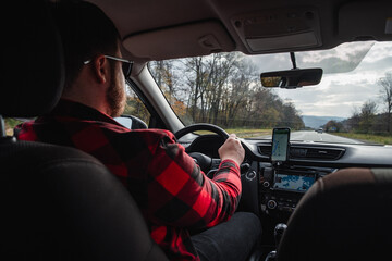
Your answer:
[[[280,166],[289,161],[290,128],[273,128],[271,162]]]

